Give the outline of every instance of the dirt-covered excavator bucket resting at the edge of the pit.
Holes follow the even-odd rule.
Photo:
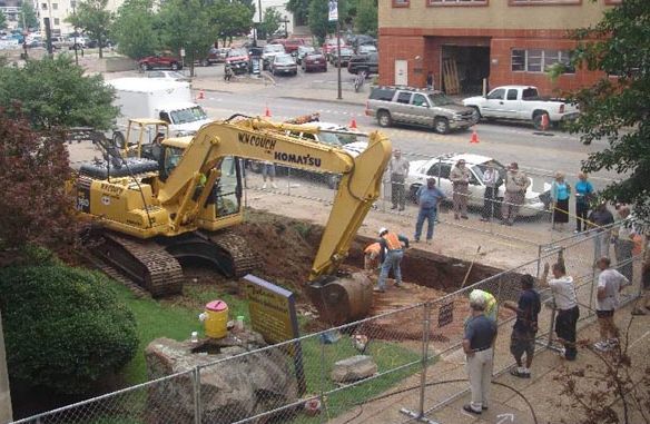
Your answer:
[[[325,276],[307,285],[321,321],[342,325],[365,318],[373,306],[373,282],[363,273]]]

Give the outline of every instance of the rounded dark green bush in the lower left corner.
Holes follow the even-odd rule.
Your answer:
[[[0,268],[9,377],[82,394],[137,349],[134,315],[98,273],[63,265]]]

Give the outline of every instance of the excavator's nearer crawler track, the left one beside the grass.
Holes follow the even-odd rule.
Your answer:
[[[92,253],[136,282],[154,297],[180,294],[183,269],[178,260],[155,241],[134,240],[104,233]]]

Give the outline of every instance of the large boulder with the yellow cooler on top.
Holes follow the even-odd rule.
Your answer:
[[[195,373],[191,371],[197,367],[203,423],[233,423],[296,401],[292,361],[282,349],[228,359],[264,346],[262,337],[253,332],[199,343],[155,339],[145,351],[149,377],[184,374],[148,387],[147,421],[195,423]]]

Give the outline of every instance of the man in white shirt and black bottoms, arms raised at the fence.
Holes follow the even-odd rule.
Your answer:
[[[553,278],[546,280],[549,276],[549,264],[544,265],[544,274],[540,280],[541,285],[546,285],[553,293],[555,303],[555,334],[564,346],[563,356],[567,361],[575,361],[578,349],[575,348],[575,333],[580,308],[575,296],[575,285],[573,277],[567,275],[564,262],[560,259],[553,264]]]

